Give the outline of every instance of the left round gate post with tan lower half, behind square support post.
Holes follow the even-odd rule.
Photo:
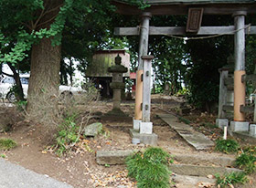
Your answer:
[[[142,120],[142,109],[141,105],[143,103],[143,81],[141,80],[141,75],[143,74],[143,62],[142,56],[146,56],[148,52],[148,36],[149,36],[149,21],[151,18],[151,13],[142,14],[142,24],[140,26],[140,44],[139,44],[139,65],[136,72],[136,90],[135,90],[135,110],[134,110],[134,120],[133,129],[138,130],[140,122]]]

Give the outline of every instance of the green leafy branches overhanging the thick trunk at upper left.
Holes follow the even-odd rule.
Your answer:
[[[53,46],[60,44],[61,33],[73,1],[66,0],[65,4],[59,7],[59,14],[55,17],[54,23],[49,28],[45,28],[43,27],[45,23],[38,23],[49,12],[54,11],[47,9],[48,4],[48,1],[43,0],[0,2],[1,12],[3,12],[0,17],[1,62],[15,64],[22,61],[28,56],[27,52],[32,45],[43,37],[54,37]],[[39,15],[38,10],[41,10]]]

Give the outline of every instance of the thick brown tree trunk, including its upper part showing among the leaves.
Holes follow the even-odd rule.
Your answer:
[[[59,14],[59,7],[62,3],[63,0],[44,0],[45,9],[37,12],[38,19],[35,29],[49,29],[54,22],[53,18]],[[40,15],[45,16],[40,17]],[[40,110],[40,106],[44,104],[38,103],[43,100],[46,100],[46,103],[56,103],[57,105],[57,100],[52,100],[52,97],[59,91],[60,57],[60,46],[53,47],[51,38],[44,37],[38,44],[32,46],[27,100],[28,113]],[[54,106],[54,104],[52,105]]]

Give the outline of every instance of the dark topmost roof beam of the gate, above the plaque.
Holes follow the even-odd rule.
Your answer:
[[[144,10],[129,4],[129,0],[112,0],[117,6],[117,13],[140,15],[150,12],[157,15],[187,15],[188,8],[204,8],[204,15],[232,15],[245,11],[248,15],[256,14],[256,0],[144,0],[150,6]]]

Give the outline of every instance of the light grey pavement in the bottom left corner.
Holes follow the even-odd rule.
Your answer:
[[[72,186],[0,159],[0,188],[72,188]]]

